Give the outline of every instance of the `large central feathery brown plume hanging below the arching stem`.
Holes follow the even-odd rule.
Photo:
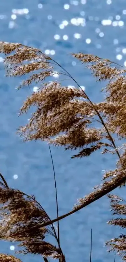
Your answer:
[[[92,123],[90,116],[96,112],[88,101],[76,100],[82,95],[82,91],[61,87],[57,82],[45,84],[42,90],[33,93],[24,102],[21,113],[27,112],[33,105],[37,106],[38,110],[26,127],[20,127],[19,133],[24,135],[26,140],[48,140],[56,146],[66,146],[67,149],[77,149],[98,142],[104,134],[96,128],[87,128]],[[60,135],[61,132],[65,133]],[[53,136],[57,137],[52,139]],[[103,145],[108,146],[97,144],[91,147],[90,153]],[[89,154],[85,153],[86,155]]]

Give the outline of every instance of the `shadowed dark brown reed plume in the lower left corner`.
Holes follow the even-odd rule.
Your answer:
[[[25,196],[19,190],[0,190],[0,239],[20,241],[18,246],[24,249],[20,253],[32,253],[45,256],[57,253],[59,250],[43,241],[46,235],[54,236],[51,226],[38,228],[38,225],[50,221],[35,199]]]

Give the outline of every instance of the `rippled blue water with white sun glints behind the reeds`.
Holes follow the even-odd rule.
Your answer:
[[[75,65],[76,60],[69,54],[92,53],[126,65],[125,9],[125,0],[0,1],[0,38],[2,41],[38,47],[50,56],[52,54],[85,87],[92,101],[101,101],[100,88],[104,87],[104,83],[96,83],[90,72],[78,63]],[[16,134],[18,126],[28,120],[28,115],[18,117],[18,112],[30,91],[26,87],[17,92],[15,88],[20,79],[5,78],[2,56],[0,61],[0,172],[9,186],[34,194],[53,219],[56,217],[55,190],[48,145],[39,141],[23,143]],[[70,80],[65,84],[74,85]],[[54,147],[51,150],[60,215],[71,210],[79,197],[101,183],[103,170],[115,167],[116,158],[111,155],[99,155],[97,152],[90,158],[71,160],[70,151]],[[115,190],[114,193],[125,197],[125,189]],[[107,253],[104,242],[118,236],[120,230],[107,225],[110,219],[109,203],[107,197],[103,197],[61,220],[61,246],[66,260],[89,261],[92,228],[93,261],[113,261],[114,254]],[[3,241],[0,244],[1,253],[14,255],[17,250],[15,244]],[[42,261],[37,255],[17,257],[23,262]],[[117,256],[116,261],[121,259]]]

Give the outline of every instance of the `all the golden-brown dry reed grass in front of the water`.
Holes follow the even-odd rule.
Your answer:
[[[41,50],[18,43],[0,42],[0,52],[5,54],[7,76],[28,74],[28,78],[19,85],[18,89],[29,86],[33,82],[40,84],[38,91],[28,96],[20,109],[21,115],[27,113],[31,107],[34,108],[28,123],[18,129],[24,141],[39,139],[55,146],[63,146],[65,150],[78,149],[78,153],[72,158],[90,156],[97,150],[103,154],[118,156],[116,169],[107,171],[103,176],[103,180],[106,178],[108,180],[96,186],[86,197],[79,199],[72,211],[54,220],[48,217],[34,197],[10,189],[1,175],[3,182],[1,182],[0,199],[1,204],[4,204],[0,210],[3,217],[0,228],[1,239],[20,241],[20,246],[24,248],[22,252],[40,254],[46,262],[48,256],[65,261],[59,243],[59,231],[57,237],[53,222],[77,212],[126,183],[126,145],[122,144],[118,147],[113,138],[113,134],[118,140],[126,138],[126,71],[118,68],[118,64],[108,59],[83,53],[72,54],[82,63],[88,64],[97,81],[108,81],[102,90],[105,94],[104,101],[93,103],[78,82],[58,62],[43,54]],[[61,74],[73,80],[76,84],[75,88],[62,86],[57,81],[47,81],[47,78],[55,73],[55,66],[59,66],[64,71]],[[116,208],[118,201],[113,204],[114,201],[115,198],[113,200],[111,197],[111,205]],[[120,207],[119,210],[122,208]],[[124,208],[123,205],[123,210]],[[29,209],[31,212],[27,212]],[[125,225],[125,222],[121,224],[121,221],[113,220],[110,223]],[[58,247],[44,241],[47,234],[55,237]],[[126,261],[126,256],[123,254],[125,236],[118,239],[123,252],[119,250],[119,244],[114,244],[116,239],[111,240],[109,245]],[[3,256],[5,258],[2,261],[9,261],[6,255]],[[10,261],[15,262],[16,259]]]

